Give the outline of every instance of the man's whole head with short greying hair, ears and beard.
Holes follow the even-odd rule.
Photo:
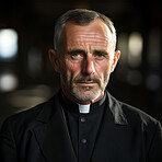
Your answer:
[[[116,32],[105,15],[70,10],[56,23],[49,58],[65,93],[79,103],[100,99],[119,58]]]

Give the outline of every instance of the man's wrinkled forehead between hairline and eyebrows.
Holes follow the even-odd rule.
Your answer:
[[[95,20],[88,25],[77,25],[68,22],[63,30],[67,45],[94,45],[107,47],[112,40],[112,33],[102,20]]]

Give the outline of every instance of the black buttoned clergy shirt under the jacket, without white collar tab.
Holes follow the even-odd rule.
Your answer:
[[[79,113],[79,105],[61,92],[60,101],[78,162],[90,162],[104,114],[106,95],[90,105],[90,113]]]

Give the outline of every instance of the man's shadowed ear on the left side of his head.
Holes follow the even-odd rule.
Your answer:
[[[60,72],[60,63],[59,63],[59,58],[55,49],[49,49],[48,50],[49,55],[49,60],[55,69],[56,72]]]

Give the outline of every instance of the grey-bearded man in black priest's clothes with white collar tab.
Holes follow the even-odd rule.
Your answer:
[[[106,91],[120,55],[112,21],[70,10],[56,23],[54,44],[61,90],[4,121],[0,161],[161,162],[160,123]]]

